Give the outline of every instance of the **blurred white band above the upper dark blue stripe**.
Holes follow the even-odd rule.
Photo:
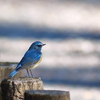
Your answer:
[[[98,0],[29,0],[0,2],[0,23],[23,23],[59,30],[100,31]]]

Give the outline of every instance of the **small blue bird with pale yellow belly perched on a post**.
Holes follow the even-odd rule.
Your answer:
[[[41,49],[42,49],[42,46],[44,45],[45,44],[43,44],[40,41],[36,41],[32,43],[32,45],[29,47],[29,49],[27,50],[27,52],[25,53],[25,55],[23,56],[23,58],[21,59],[17,67],[15,68],[15,70],[10,73],[9,77],[13,77],[20,70],[23,70],[23,69],[27,70],[28,76],[29,76],[29,70],[32,75],[31,69],[36,68],[42,60]]]

